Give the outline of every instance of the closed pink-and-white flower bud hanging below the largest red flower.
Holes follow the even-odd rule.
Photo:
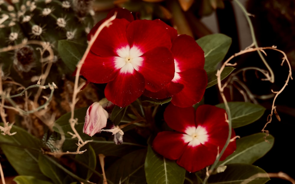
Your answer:
[[[102,128],[106,127],[106,121],[108,118],[109,114],[101,106],[101,103],[94,102],[87,109],[83,133],[86,133],[91,137],[95,133],[99,133]]]

